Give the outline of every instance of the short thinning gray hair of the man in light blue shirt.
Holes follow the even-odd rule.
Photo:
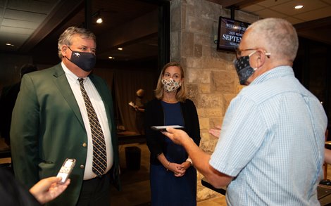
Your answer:
[[[266,18],[254,22],[249,28],[251,39],[263,42],[271,55],[294,61],[299,47],[298,35],[293,25],[282,18]]]

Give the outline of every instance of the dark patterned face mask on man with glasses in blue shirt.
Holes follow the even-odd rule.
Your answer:
[[[247,79],[255,72],[249,65],[249,56],[242,56],[239,60],[236,59],[233,64],[235,65],[240,84],[246,85]]]

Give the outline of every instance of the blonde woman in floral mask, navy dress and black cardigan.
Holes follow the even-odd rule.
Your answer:
[[[180,125],[199,146],[199,120],[187,99],[180,63],[166,64],[158,78],[155,99],[146,105],[145,134],[151,152],[151,205],[196,205],[196,169],[185,149],[152,126]]]

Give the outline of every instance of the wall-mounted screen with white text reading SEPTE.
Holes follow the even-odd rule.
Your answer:
[[[235,51],[242,41],[242,34],[250,24],[220,16],[218,21],[217,50]]]

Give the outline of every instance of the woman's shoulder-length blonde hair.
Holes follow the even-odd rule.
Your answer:
[[[180,68],[182,86],[180,86],[180,88],[177,89],[176,100],[180,101],[180,102],[185,102],[185,100],[187,98],[187,90],[186,90],[185,78],[184,78],[185,74],[184,74],[184,70],[183,70],[182,66],[180,65],[180,63],[177,63],[177,62],[170,62],[163,66],[161,74],[158,77],[158,84],[156,86],[156,89],[154,90],[155,97],[159,100],[161,100],[163,98],[162,78],[163,78],[165,70],[168,67],[179,67]]]

